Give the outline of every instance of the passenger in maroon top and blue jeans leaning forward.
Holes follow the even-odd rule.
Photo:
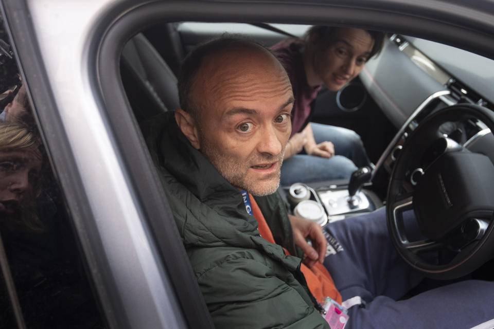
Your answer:
[[[357,167],[371,165],[357,133],[310,120],[321,87],[340,90],[379,54],[383,41],[384,33],[378,31],[316,25],[303,38],[271,47],[287,70],[295,96],[282,185],[349,178]]]

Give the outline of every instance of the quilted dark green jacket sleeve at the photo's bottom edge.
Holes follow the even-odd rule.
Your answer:
[[[198,282],[216,328],[329,328],[291,273],[272,264],[232,259]]]

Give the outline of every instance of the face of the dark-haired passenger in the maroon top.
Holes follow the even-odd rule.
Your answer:
[[[329,90],[337,91],[354,79],[369,59],[374,40],[367,31],[339,28],[329,48],[316,52],[314,72]]]

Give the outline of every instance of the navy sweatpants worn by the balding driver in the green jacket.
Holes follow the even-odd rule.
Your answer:
[[[324,230],[343,248],[324,260],[343,301],[355,296],[366,301],[364,308],[350,308],[345,329],[466,329],[494,318],[491,281],[457,282],[399,300],[424,276],[393,247],[385,208],[328,224]]]

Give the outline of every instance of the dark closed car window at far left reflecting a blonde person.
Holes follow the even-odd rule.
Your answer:
[[[0,328],[105,327],[6,30],[0,30]]]

